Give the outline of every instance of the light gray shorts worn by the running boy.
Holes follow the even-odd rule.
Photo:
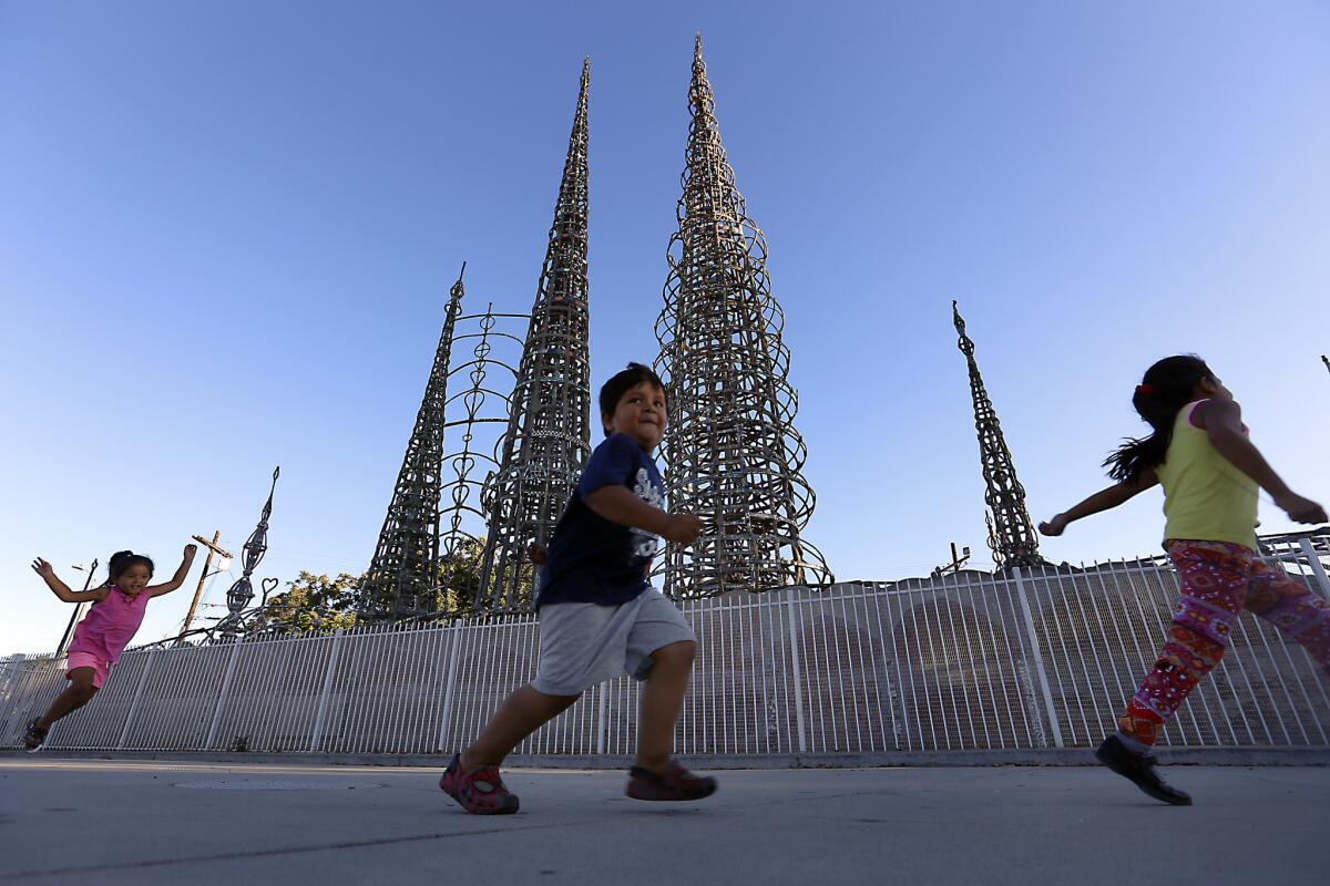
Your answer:
[[[649,587],[618,606],[551,603],[540,607],[540,662],[531,687],[545,695],[577,695],[628,673],[645,680],[652,652],[697,642],[669,598]]]

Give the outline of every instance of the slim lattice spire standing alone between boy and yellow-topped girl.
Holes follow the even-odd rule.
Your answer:
[[[975,363],[975,343],[966,335],[966,320],[960,308],[951,303],[952,321],[960,339],[956,347],[966,355],[970,367],[970,393],[975,401],[975,430],[979,432],[979,460],[984,469],[984,502],[992,513],[988,523],[988,547],[999,569],[1012,566],[1039,566],[1044,559],[1039,555],[1039,537],[1035,523],[1025,510],[1025,489],[1016,480],[1016,466],[1007,449],[998,413],[979,375]]]

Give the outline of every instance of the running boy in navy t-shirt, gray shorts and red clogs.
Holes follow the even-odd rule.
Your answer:
[[[670,757],[697,639],[646,578],[657,537],[688,545],[702,530],[697,517],[662,509],[664,485],[650,453],[665,433],[665,387],[654,372],[630,363],[600,389],[600,413],[606,440],[588,460],[555,527],[536,590],[536,679],[508,696],[439,780],[469,813],[517,812],[499,765],[584,689],[625,672],[645,680],[637,765],[625,793],[701,800],[716,790],[714,778],[694,776]]]

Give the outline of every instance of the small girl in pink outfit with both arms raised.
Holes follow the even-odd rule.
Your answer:
[[[51,563],[40,557],[33,561],[33,571],[47,582],[47,587],[56,596],[65,603],[92,600],[93,604],[74,628],[74,639],[69,644],[69,667],[65,671],[69,685],[56,696],[44,716],[28,724],[23,747],[29,753],[45,743],[47,733],[56,720],[88,704],[97,693],[110,673],[110,665],[120,660],[120,654],[144,623],[148,600],[184,584],[196,553],[198,547],[186,545],[185,558],[172,579],[165,584],[149,584],[153,562],[142,554],[120,551],[110,558],[108,583],[90,591],[69,590],[68,584],[56,578]]]

